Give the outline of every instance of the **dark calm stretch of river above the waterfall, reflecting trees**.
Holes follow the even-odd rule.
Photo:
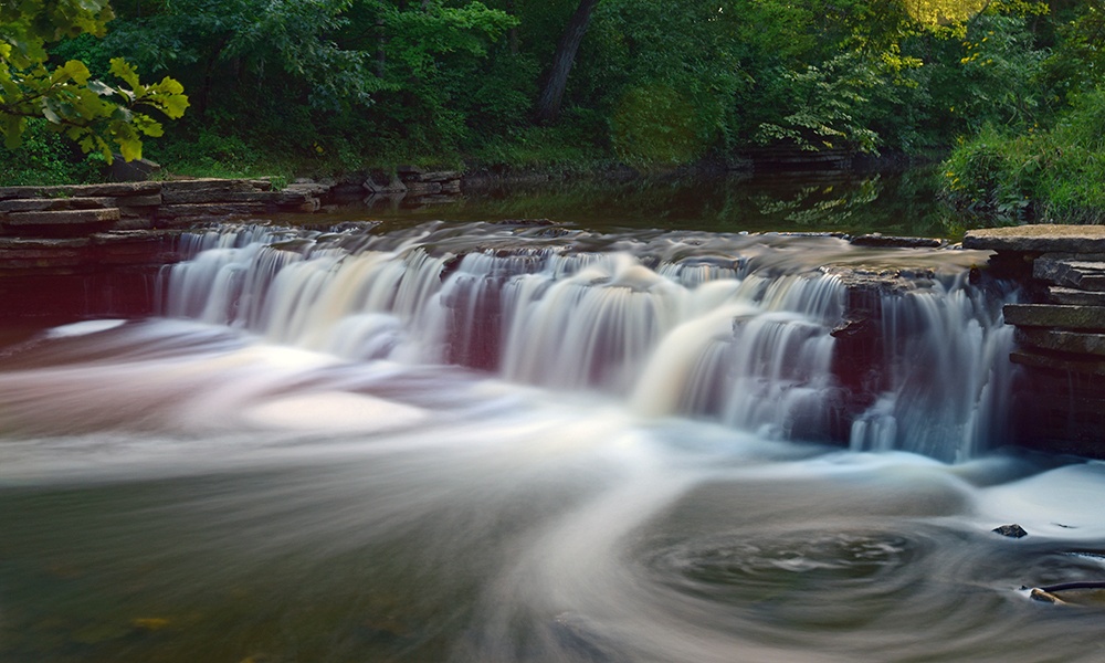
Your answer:
[[[550,219],[592,229],[806,231],[958,238],[964,219],[937,199],[935,167],[572,181],[470,189],[461,199],[370,198],[372,218],[410,222]],[[336,215],[362,218],[362,206]],[[335,214],[328,214],[327,223]],[[312,219],[306,219],[312,222]],[[314,222],[318,222],[317,217]]]

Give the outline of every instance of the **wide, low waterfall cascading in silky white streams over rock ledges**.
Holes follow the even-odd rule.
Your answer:
[[[951,461],[1001,438],[1011,337],[1001,302],[966,282],[968,252],[440,222],[227,225],[180,242],[191,257],[162,273],[164,313],[270,343],[453,364],[641,417],[856,451]],[[938,275],[878,292],[877,348],[845,357],[855,343],[842,348],[834,329],[854,313],[852,286],[824,265],[894,260]]]

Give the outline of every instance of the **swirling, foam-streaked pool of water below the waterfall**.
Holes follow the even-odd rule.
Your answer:
[[[1096,661],[1105,465],[778,442],[182,320],[0,357],[0,660]],[[1007,539],[1006,523],[1029,530]]]

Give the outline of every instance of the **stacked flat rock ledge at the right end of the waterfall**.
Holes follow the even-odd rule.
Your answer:
[[[1105,228],[978,230],[964,246],[994,251],[993,271],[1025,286],[1004,307],[1022,367],[1014,442],[1105,457]]]

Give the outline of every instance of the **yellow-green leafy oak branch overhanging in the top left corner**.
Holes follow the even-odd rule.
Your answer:
[[[114,18],[107,0],[0,2],[0,131],[4,145],[20,145],[29,118],[98,151],[110,162],[114,147],[128,161],[141,157],[144,136],[160,136],[161,124],[146,113],[178,118],[188,97],[177,81],[144,85],[123,59],[110,61],[109,85],[94,78],[81,61],[49,62],[46,45],[80,34],[103,36]]]

